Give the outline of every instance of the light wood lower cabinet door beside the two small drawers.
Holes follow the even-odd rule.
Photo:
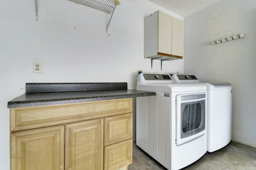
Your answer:
[[[66,125],[65,170],[103,170],[103,121]]]

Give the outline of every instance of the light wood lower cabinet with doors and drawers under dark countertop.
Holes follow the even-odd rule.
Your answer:
[[[132,163],[132,98],[11,108],[10,124],[11,170],[127,170]]]

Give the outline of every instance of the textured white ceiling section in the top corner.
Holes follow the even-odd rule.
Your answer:
[[[148,0],[148,1],[184,18],[220,0]]]

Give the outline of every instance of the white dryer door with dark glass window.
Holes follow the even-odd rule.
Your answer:
[[[176,96],[176,145],[181,145],[205,134],[206,94]]]

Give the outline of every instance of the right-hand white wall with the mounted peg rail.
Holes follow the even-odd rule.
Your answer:
[[[184,72],[233,85],[232,140],[256,147],[256,0],[221,0],[184,18]],[[245,38],[211,45],[236,33]]]

